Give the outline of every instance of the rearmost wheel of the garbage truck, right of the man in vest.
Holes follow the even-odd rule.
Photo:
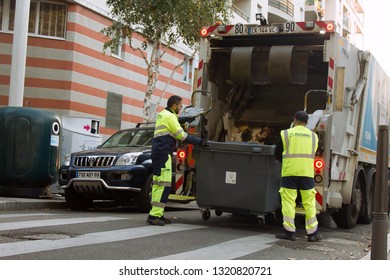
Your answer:
[[[332,214],[332,218],[339,228],[353,228],[356,225],[362,207],[361,186],[358,179],[352,191],[351,204],[343,204],[338,212]]]

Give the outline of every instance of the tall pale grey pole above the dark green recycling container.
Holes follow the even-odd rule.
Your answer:
[[[23,107],[30,0],[16,0],[9,106]]]

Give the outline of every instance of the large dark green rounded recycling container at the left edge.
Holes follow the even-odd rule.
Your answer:
[[[33,108],[0,108],[0,195],[50,197],[61,152],[58,115]]]

